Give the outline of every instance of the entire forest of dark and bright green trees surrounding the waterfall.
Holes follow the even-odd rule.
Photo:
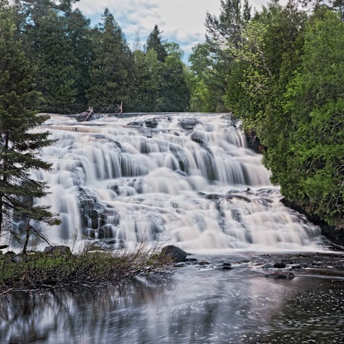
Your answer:
[[[272,1],[259,11],[221,1],[189,65],[158,25],[143,50],[130,49],[109,10],[92,27],[75,2],[0,2],[1,213],[8,204],[23,210],[18,195],[44,195],[14,167],[49,169],[23,153],[49,144],[44,134],[22,136],[43,120],[34,111],[111,113],[122,102],[127,112],[233,112],[259,139],[286,200],[343,228],[342,0]],[[28,189],[14,188],[17,177]]]

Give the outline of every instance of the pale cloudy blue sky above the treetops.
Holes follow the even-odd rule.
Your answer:
[[[267,0],[249,2],[252,10],[259,10]],[[158,24],[162,38],[178,43],[187,62],[191,47],[204,41],[206,12],[218,15],[220,0],[80,0],[74,7],[90,18],[92,25],[96,25],[104,9],[109,8],[131,48],[139,37],[142,49],[149,32]]]

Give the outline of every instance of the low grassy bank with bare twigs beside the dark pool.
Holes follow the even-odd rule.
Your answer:
[[[148,250],[144,244],[139,244],[133,252],[121,254],[85,250],[78,255],[65,252],[0,255],[0,294],[51,286],[116,285],[138,275],[166,276],[170,272],[169,257]]]

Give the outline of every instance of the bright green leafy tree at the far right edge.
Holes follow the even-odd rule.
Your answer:
[[[289,200],[343,228],[344,23],[331,10],[313,17],[301,68],[286,92],[292,130],[288,170],[279,179]],[[285,182],[287,173],[297,175],[293,184]]]

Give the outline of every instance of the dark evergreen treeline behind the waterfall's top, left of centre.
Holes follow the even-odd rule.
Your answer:
[[[190,92],[182,51],[162,40],[158,26],[144,51],[132,52],[114,16],[105,9],[90,26],[75,0],[1,1],[1,20],[10,17],[23,52],[32,63],[40,111],[73,113],[94,107],[114,112],[185,111]]]

